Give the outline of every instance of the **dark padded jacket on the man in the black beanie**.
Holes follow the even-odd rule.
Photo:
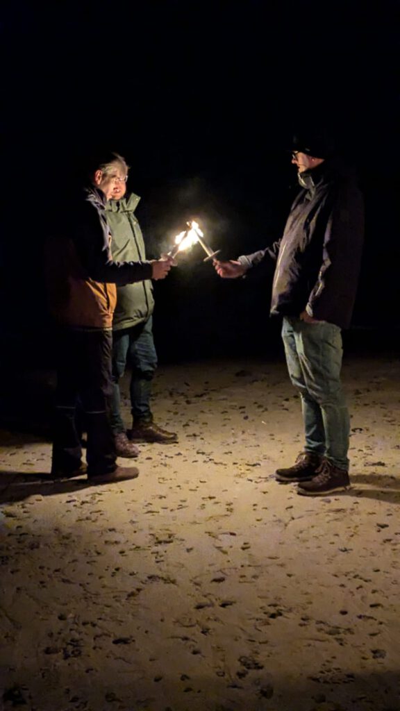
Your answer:
[[[275,264],[271,314],[347,328],[352,316],[364,238],[364,204],[354,176],[331,159],[302,173],[283,237],[239,257],[246,267]]]

